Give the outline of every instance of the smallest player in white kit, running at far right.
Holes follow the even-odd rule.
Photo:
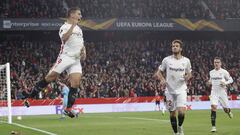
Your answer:
[[[218,102],[222,105],[224,111],[228,114],[230,118],[233,118],[233,114],[228,104],[228,96],[226,85],[233,82],[232,77],[227,70],[222,69],[221,58],[214,58],[214,69],[210,71],[210,79],[208,85],[212,85],[211,90],[211,123],[212,129],[211,132],[216,132],[216,111]]]

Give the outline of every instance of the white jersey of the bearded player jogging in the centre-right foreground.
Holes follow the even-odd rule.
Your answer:
[[[187,84],[184,75],[192,71],[190,60],[184,56],[176,59],[173,55],[165,57],[159,70],[166,70],[167,91],[171,94],[186,92]]]

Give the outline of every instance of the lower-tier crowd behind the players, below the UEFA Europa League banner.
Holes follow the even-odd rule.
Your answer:
[[[224,67],[234,79],[231,94],[240,92],[240,40],[184,41],[183,54],[190,58],[193,77],[189,95],[209,95],[206,86],[213,58],[222,57]],[[163,88],[152,78],[162,59],[171,54],[168,40],[122,40],[85,43],[87,59],[82,62],[83,78],[78,97],[137,97],[162,94]],[[12,98],[21,99],[35,82],[47,74],[60,50],[58,41],[4,41],[0,43],[0,63],[11,63]],[[3,78],[2,78],[3,79]],[[66,73],[61,81],[66,80]],[[51,83],[39,98],[60,96],[59,86]]]

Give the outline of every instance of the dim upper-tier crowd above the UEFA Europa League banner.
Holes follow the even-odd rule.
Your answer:
[[[65,17],[79,6],[86,18],[205,18],[240,17],[239,0],[2,0],[1,18]]]

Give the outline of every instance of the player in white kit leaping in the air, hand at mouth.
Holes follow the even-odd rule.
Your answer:
[[[55,81],[58,76],[66,70],[69,74],[70,91],[68,94],[67,108],[64,111],[70,117],[74,117],[73,113],[71,113],[71,110],[75,102],[75,95],[77,88],[80,85],[80,79],[82,75],[80,59],[84,60],[86,58],[83,33],[81,28],[77,25],[81,17],[80,8],[73,7],[69,9],[67,21],[59,30],[59,36],[62,41],[62,45],[56,63],[49,71],[47,76],[43,80],[36,83],[30,94],[23,92],[23,95],[26,98],[35,97],[43,88],[45,88],[50,82]],[[29,106],[27,100],[25,104]]]

